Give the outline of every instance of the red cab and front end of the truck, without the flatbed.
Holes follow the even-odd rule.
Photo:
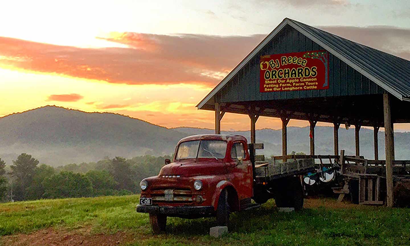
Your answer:
[[[164,230],[167,216],[217,216],[219,224],[226,224],[228,213],[246,208],[253,196],[253,168],[246,138],[183,138],[175,148],[173,161],[164,165],[158,176],[142,180],[140,186],[137,211],[150,214],[154,232]],[[225,212],[218,214],[218,205]]]

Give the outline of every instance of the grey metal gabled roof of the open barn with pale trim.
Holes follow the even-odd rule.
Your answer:
[[[304,23],[285,18],[249,53],[201,102],[198,109],[214,100],[216,93],[271,41],[286,25],[326,49],[400,100],[410,101],[410,61],[355,43]]]

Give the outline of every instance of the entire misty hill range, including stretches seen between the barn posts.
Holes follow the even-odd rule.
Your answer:
[[[97,161],[108,156],[131,158],[144,154],[172,154],[183,137],[214,133],[212,129],[179,127],[167,129],[143,120],[114,113],[86,113],[56,106],[44,106],[0,118],[0,158],[11,165],[20,153],[52,166]],[[333,128],[317,126],[316,153],[333,153]],[[249,138],[249,131],[223,131]],[[309,153],[309,128],[288,127],[288,152]],[[354,154],[354,129],[339,129],[339,149]],[[265,155],[282,153],[281,130],[256,131]],[[395,133],[396,159],[410,159],[410,133]],[[360,150],[373,158],[373,131],[360,130]],[[379,153],[384,158],[384,133],[379,132]]]

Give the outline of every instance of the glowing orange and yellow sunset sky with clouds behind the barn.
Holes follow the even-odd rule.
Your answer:
[[[196,104],[285,17],[410,60],[408,0],[14,0],[0,14],[0,117],[57,105],[213,128]]]

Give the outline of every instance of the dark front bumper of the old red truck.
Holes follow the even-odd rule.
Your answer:
[[[214,214],[214,207],[212,206],[155,206],[155,205],[137,205],[137,212],[150,213],[150,214],[166,214],[168,216],[190,216],[198,215],[199,217],[205,217],[207,215]]]

